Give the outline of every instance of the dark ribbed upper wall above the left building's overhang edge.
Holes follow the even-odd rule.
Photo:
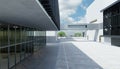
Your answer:
[[[60,29],[58,0],[39,0],[58,29]]]

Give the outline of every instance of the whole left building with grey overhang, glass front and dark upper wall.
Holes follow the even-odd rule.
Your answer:
[[[10,69],[59,30],[58,0],[0,0],[0,69]]]

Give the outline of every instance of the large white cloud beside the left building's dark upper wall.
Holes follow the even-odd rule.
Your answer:
[[[70,15],[76,13],[81,2],[82,0],[59,0],[61,20],[64,20],[67,23],[75,23],[74,18],[70,17]]]

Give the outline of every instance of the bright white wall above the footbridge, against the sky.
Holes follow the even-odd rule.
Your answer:
[[[85,16],[87,23],[95,19],[97,19],[97,22],[95,23],[103,23],[103,13],[100,11],[115,1],[117,0],[94,0],[94,2],[87,8]]]

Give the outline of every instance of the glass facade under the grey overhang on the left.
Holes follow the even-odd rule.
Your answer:
[[[0,69],[10,69],[46,45],[46,32],[0,23]]]

